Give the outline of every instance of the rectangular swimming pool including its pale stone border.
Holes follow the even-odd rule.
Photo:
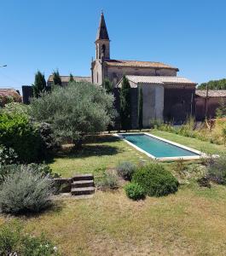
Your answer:
[[[158,160],[194,160],[204,156],[198,150],[156,137],[149,133],[120,133],[118,137],[131,146]]]

